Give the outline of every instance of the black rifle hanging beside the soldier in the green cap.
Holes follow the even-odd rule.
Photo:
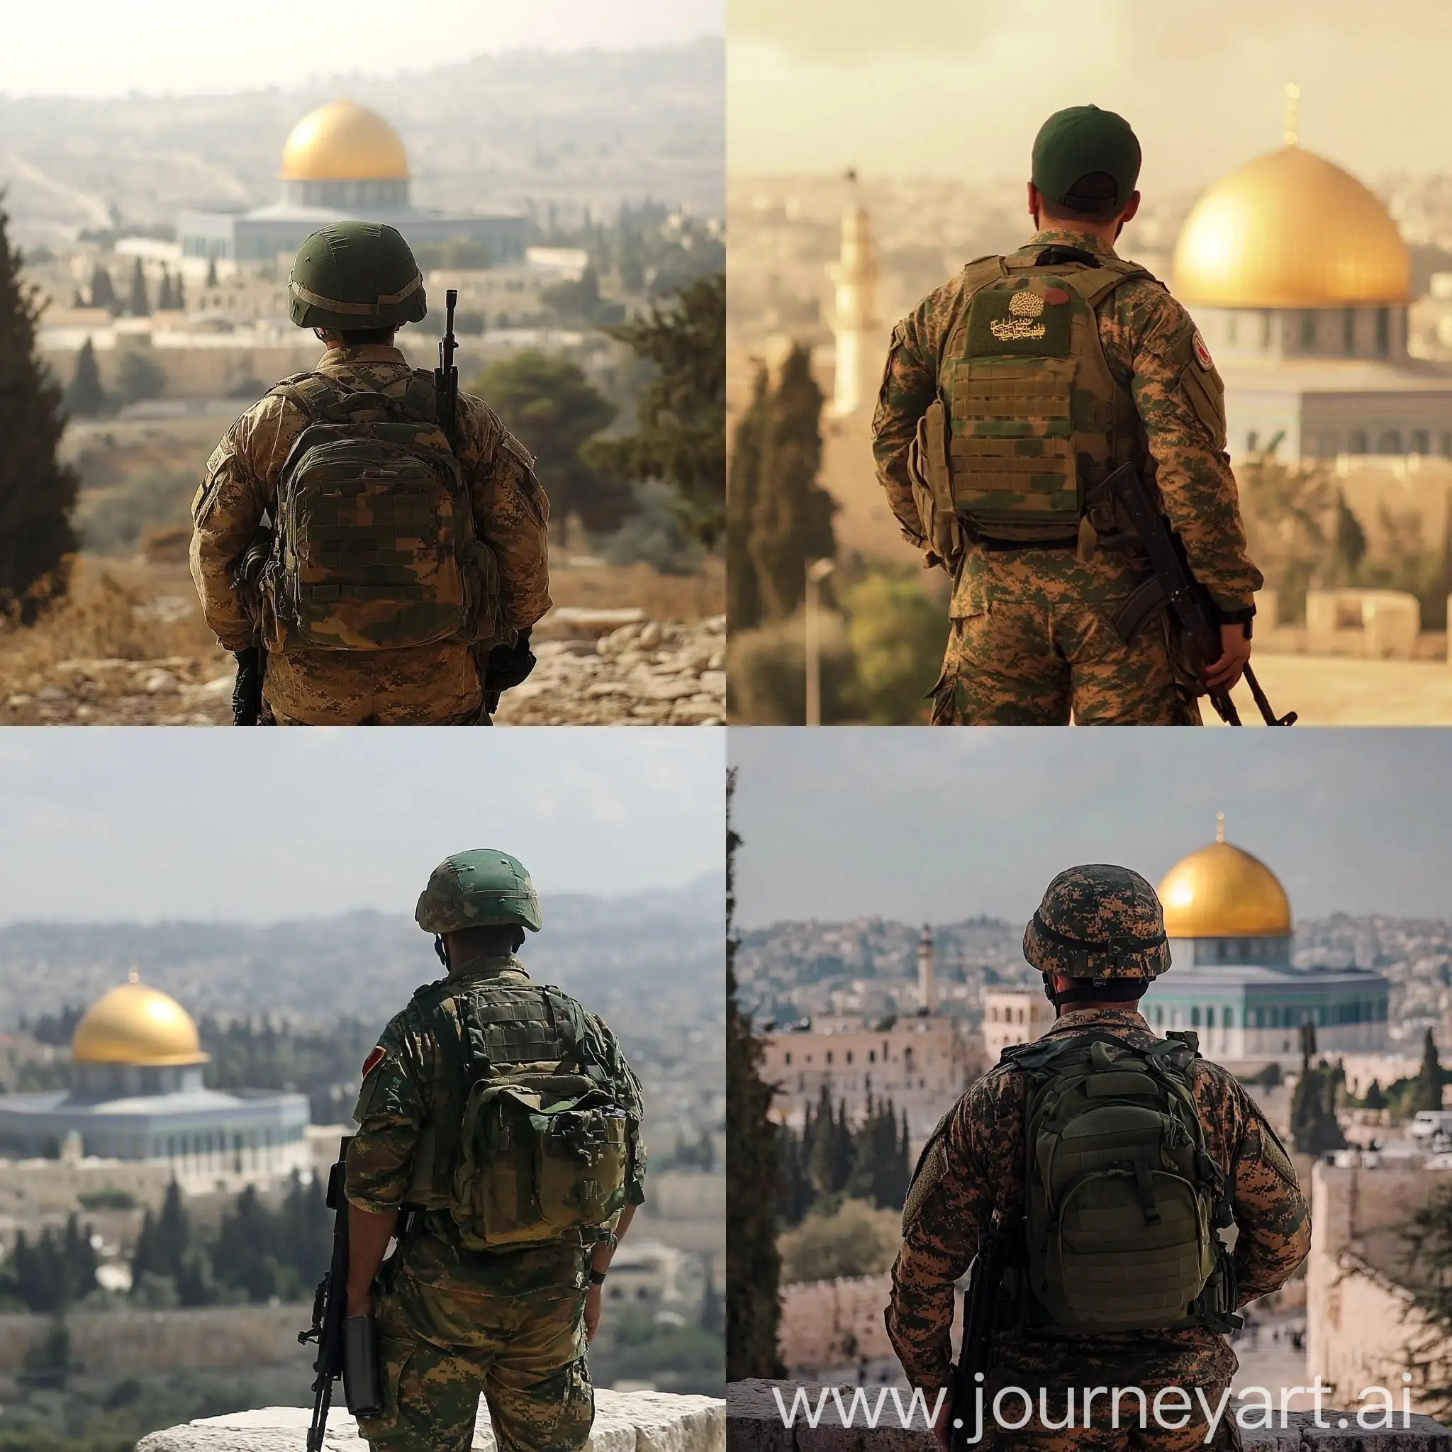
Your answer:
[[[1098,498],[1105,492],[1112,495],[1115,504],[1128,517],[1137,542],[1150,558],[1150,569],[1154,571],[1153,578],[1130,595],[1115,616],[1114,627],[1119,639],[1125,645],[1131,645],[1154,616],[1169,608],[1183,632],[1191,664],[1196,671],[1204,671],[1205,666],[1218,661],[1223,652],[1220,616],[1205,588],[1191,574],[1183,542],[1156,507],[1133,463],[1119,465],[1102,484],[1090,489],[1090,498]],[[1266,693],[1260,690],[1260,682],[1249,662],[1244,675],[1246,685],[1250,687],[1250,694],[1255,697],[1265,723],[1268,726],[1292,726],[1295,711],[1276,716],[1270,710]],[[1211,691],[1210,704],[1215,707],[1223,722],[1230,726],[1240,725],[1240,713],[1228,691]]]

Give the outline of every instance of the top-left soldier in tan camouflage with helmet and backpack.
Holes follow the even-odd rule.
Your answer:
[[[240,697],[264,653],[263,720],[486,723],[550,605],[534,462],[469,393],[441,420],[393,346],[427,302],[392,227],[314,232],[287,290],[327,353],[232,424],[192,501],[192,578]]]

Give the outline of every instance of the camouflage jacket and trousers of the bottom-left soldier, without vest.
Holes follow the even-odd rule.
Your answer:
[[[529,974],[514,955],[475,958],[450,971],[443,1009],[491,983]],[[587,1012],[624,1105],[640,1115],[640,1085],[610,1029]],[[449,1111],[440,1054],[407,1015],[383,1029],[353,1118],[347,1198],[373,1212],[407,1199],[421,1127]],[[627,1198],[645,1199],[645,1150]],[[585,1363],[587,1256],[575,1244],[469,1250],[449,1210],[431,1210],[385,1265],[378,1311],[385,1407],[359,1426],[375,1452],[439,1452],[470,1445],[484,1392],[501,1452],[578,1452],[595,1414]]]

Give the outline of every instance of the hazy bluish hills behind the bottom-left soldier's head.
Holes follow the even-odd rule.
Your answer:
[[[552,896],[544,913],[544,931],[530,934],[521,954],[536,979],[607,1013],[639,1006],[656,1022],[719,1015],[719,878],[632,897]],[[385,1019],[441,973],[412,919],[376,912],[269,926],[22,922],[0,928],[0,1028],[89,1003],[132,964],[195,1016],[308,1022]]]

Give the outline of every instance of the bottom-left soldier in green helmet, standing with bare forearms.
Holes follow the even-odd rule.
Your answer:
[[[501,1452],[578,1452],[600,1288],[645,1199],[640,1085],[515,957],[540,905],[513,857],[447,858],[415,918],[447,976],[369,1054],[347,1159],[348,1314],[376,1311],[383,1372],[359,1424],[373,1452],[465,1449],[482,1391]]]

